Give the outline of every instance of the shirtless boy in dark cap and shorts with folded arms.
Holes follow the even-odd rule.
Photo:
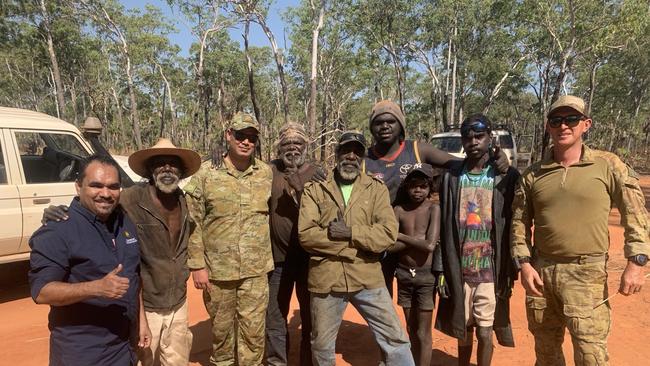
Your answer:
[[[415,164],[404,178],[394,208],[399,234],[392,252],[399,252],[397,304],[404,309],[411,353],[416,365],[431,362],[431,323],[435,277],[433,251],[440,233],[440,206],[432,201],[437,192],[434,172],[428,164]],[[434,189],[435,188],[435,189]]]

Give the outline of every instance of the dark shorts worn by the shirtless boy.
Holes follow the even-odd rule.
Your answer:
[[[436,277],[431,266],[408,268],[399,265],[397,277],[397,305],[403,308],[416,307],[420,310],[435,308]]]

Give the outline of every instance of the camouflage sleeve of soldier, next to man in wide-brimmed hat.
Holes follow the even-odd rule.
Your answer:
[[[194,222],[194,230],[187,244],[187,266],[190,269],[205,268],[205,246],[203,244],[203,219],[205,217],[205,201],[203,195],[204,167],[192,176],[184,190],[187,197],[187,208]]]

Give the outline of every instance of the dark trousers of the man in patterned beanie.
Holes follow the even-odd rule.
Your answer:
[[[287,317],[294,284],[300,306],[301,339],[300,363],[311,365],[311,313],[309,311],[309,290],[307,288],[307,260],[287,260],[276,263],[269,273],[269,306],[266,311],[266,362],[269,366],[288,364],[289,332]]]

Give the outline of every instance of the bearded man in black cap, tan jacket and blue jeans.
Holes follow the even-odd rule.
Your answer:
[[[298,220],[300,245],[311,254],[311,345],[315,365],[336,362],[336,335],[348,303],[368,322],[386,365],[413,365],[410,343],[386,289],[379,259],[397,239],[386,186],[361,173],[366,143],[344,132],[336,168],[325,182],[309,183]]]

